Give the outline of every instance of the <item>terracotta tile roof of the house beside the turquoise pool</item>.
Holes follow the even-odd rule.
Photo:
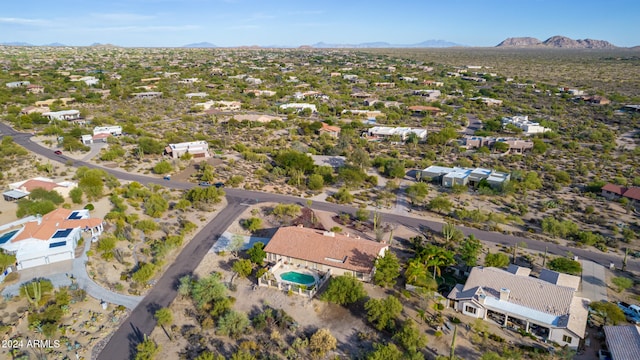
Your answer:
[[[296,226],[281,227],[264,251],[332,266],[370,273],[376,258],[388,245],[345,235],[324,235],[322,230]]]

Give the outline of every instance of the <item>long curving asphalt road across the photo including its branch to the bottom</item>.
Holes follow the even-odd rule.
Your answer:
[[[123,171],[103,168],[95,164],[87,163],[80,160],[70,159],[63,155],[55,155],[50,149],[46,149],[30,140],[31,134],[16,132],[5,124],[0,123],[0,132],[2,135],[12,136],[14,141],[25,147],[26,149],[45,156],[51,160],[61,163],[69,163],[72,166],[86,166],[89,168],[99,168],[107,171],[113,176],[121,180],[137,181],[142,184],[160,184],[174,189],[190,189],[194,186],[191,183],[165,181],[144,175],[127,173]],[[227,207],[218,214],[209,224],[207,224],[195,237],[187,244],[184,250],[176,258],[176,261],[167,269],[164,275],[158,280],[156,285],[149,291],[142,302],[133,310],[129,318],[116,331],[109,340],[106,347],[100,353],[98,359],[128,359],[134,354],[135,346],[140,342],[144,334],[150,334],[155,327],[155,319],[153,313],[155,310],[168,306],[177,295],[178,279],[187,274],[191,274],[198,266],[204,255],[216,242],[217,238],[226,230],[226,228],[236,219],[244,210],[244,204],[258,202],[279,202],[279,203],[299,203],[306,204],[306,199],[288,195],[279,195],[271,193],[263,193],[257,191],[248,191],[241,189],[226,189]],[[355,209],[350,206],[314,202],[311,206],[313,209],[330,212],[349,212],[354,213]],[[442,229],[441,222],[418,219],[410,216],[383,213],[382,219],[385,222],[396,223],[406,227],[420,230],[425,227],[433,231],[439,232]],[[619,256],[606,254],[601,252],[592,252],[586,249],[578,249],[557,245],[554,243],[505,235],[501,233],[483,231],[475,228],[459,227],[465,235],[473,234],[476,238],[491,243],[498,243],[505,246],[513,246],[517,243],[524,242],[527,248],[536,251],[545,251],[548,249],[549,254],[566,255],[568,252],[579,256],[582,259],[594,261],[606,267],[610,263],[616,266],[621,265]],[[627,262],[627,270],[640,271],[640,261],[629,258]]]

